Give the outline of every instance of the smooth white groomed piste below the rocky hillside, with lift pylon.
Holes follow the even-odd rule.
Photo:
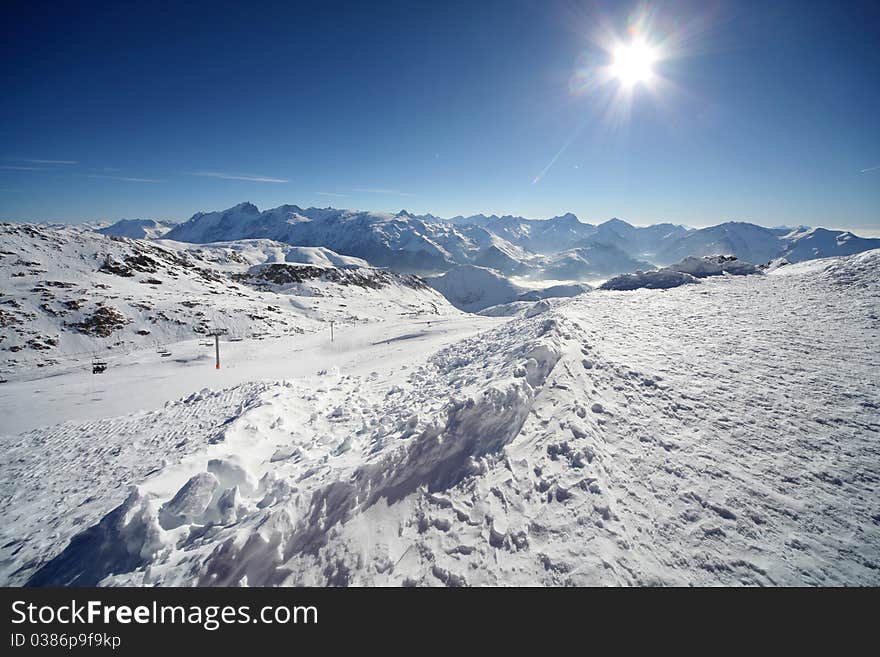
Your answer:
[[[529,304],[531,305],[531,304]],[[437,349],[491,326],[464,316],[388,318],[385,322],[336,323],[314,333],[262,336],[241,342],[221,338],[221,369],[214,368],[214,346],[199,340],[170,345],[170,358],[155,349],[109,355],[107,371],[91,374],[91,360],[71,358],[35,372],[14,372],[0,385],[2,433],[21,433],[55,422],[100,420],[158,408],[206,386],[224,389],[243,382],[315,376],[325,369],[389,367],[412,354]],[[488,323],[486,323],[488,322]],[[405,339],[400,339],[401,337]],[[395,341],[396,339],[396,341]],[[405,345],[406,349],[402,345]],[[18,400],[27,399],[27,404]]]

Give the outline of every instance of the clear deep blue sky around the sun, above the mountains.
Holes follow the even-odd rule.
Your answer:
[[[4,220],[250,200],[880,233],[876,2],[13,2],[0,29]],[[657,62],[627,93],[599,72],[634,34]]]

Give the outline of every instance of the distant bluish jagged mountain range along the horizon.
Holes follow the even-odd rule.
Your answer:
[[[586,280],[666,265],[688,256],[733,255],[759,264],[847,255],[876,248],[842,231],[768,229],[727,222],[692,230],[662,223],[633,226],[611,219],[598,226],[571,214],[547,220],[473,215],[449,220],[413,215],[300,208],[260,211],[251,203],[198,213],[170,230],[181,242],[269,239],[295,246],[324,247],[404,273],[435,276],[458,265],[494,269],[506,276]]]

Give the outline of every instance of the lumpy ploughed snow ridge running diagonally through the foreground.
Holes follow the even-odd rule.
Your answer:
[[[374,507],[443,494],[503,461],[561,357],[563,333],[542,315],[465,340],[414,371],[405,390],[359,408],[365,382],[343,377],[341,403],[313,427],[325,435],[317,444],[297,438],[305,421],[285,428],[304,403],[292,388],[266,394],[224,424],[213,458],[148,479],[30,583],[310,582],[315,558],[327,559],[325,583],[347,583],[335,572],[339,528],[358,526]]]

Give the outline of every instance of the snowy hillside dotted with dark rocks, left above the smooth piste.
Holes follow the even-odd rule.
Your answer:
[[[419,279],[323,248],[180,244],[29,224],[0,224],[0,243],[0,377],[26,364],[194,340],[214,327],[277,336],[329,320],[457,312]],[[267,265],[294,272],[283,290],[253,269]]]

